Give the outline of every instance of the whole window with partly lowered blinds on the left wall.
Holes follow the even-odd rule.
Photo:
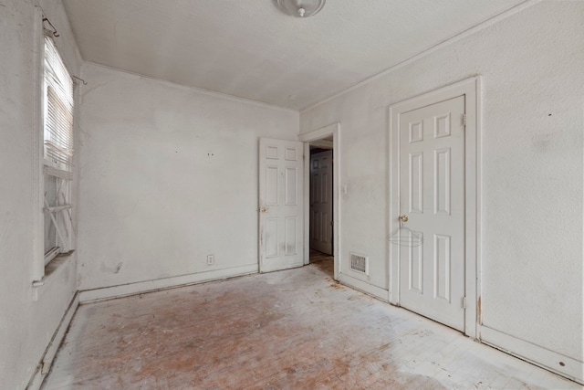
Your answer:
[[[44,245],[45,265],[73,249],[73,80],[51,37],[44,58]]]

